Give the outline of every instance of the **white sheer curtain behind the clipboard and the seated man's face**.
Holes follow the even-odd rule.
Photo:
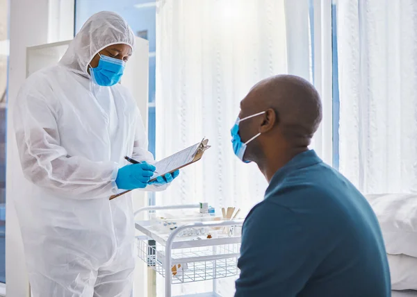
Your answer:
[[[263,199],[265,178],[255,164],[234,156],[230,128],[240,100],[259,80],[286,73],[309,79],[309,2],[294,2],[157,1],[156,158],[202,137],[212,147],[157,194],[156,204],[204,201],[217,210],[240,207],[245,216]],[[175,289],[184,295],[207,287]],[[217,291],[232,296],[234,283],[220,281]]]

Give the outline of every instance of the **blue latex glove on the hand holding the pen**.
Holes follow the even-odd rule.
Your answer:
[[[142,162],[122,167],[117,171],[116,185],[119,189],[143,189],[154,175],[154,165]]]

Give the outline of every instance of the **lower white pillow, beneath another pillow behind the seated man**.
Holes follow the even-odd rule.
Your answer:
[[[393,290],[417,290],[417,258],[388,255]]]

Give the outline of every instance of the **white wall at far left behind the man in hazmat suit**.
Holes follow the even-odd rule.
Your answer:
[[[50,17],[51,9],[60,5],[69,8],[63,20]],[[72,8],[72,10],[70,9]],[[56,33],[56,28],[59,33]],[[29,296],[28,279],[24,264],[22,239],[19,231],[14,195],[19,185],[13,160],[17,147],[13,132],[13,101],[26,78],[26,46],[71,39],[74,28],[74,0],[13,0],[10,1],[10,60],[8,74],[8,130],[7,130],[7,183],[6,183],[6,293],[10,297]],[[40,243],[42,244],[42,243]]]

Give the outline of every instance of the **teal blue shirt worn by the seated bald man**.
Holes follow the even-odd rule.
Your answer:
[[[384,240],[362,194],[314,151],[272,178],[243,224],[235,297],[389,297]]]

